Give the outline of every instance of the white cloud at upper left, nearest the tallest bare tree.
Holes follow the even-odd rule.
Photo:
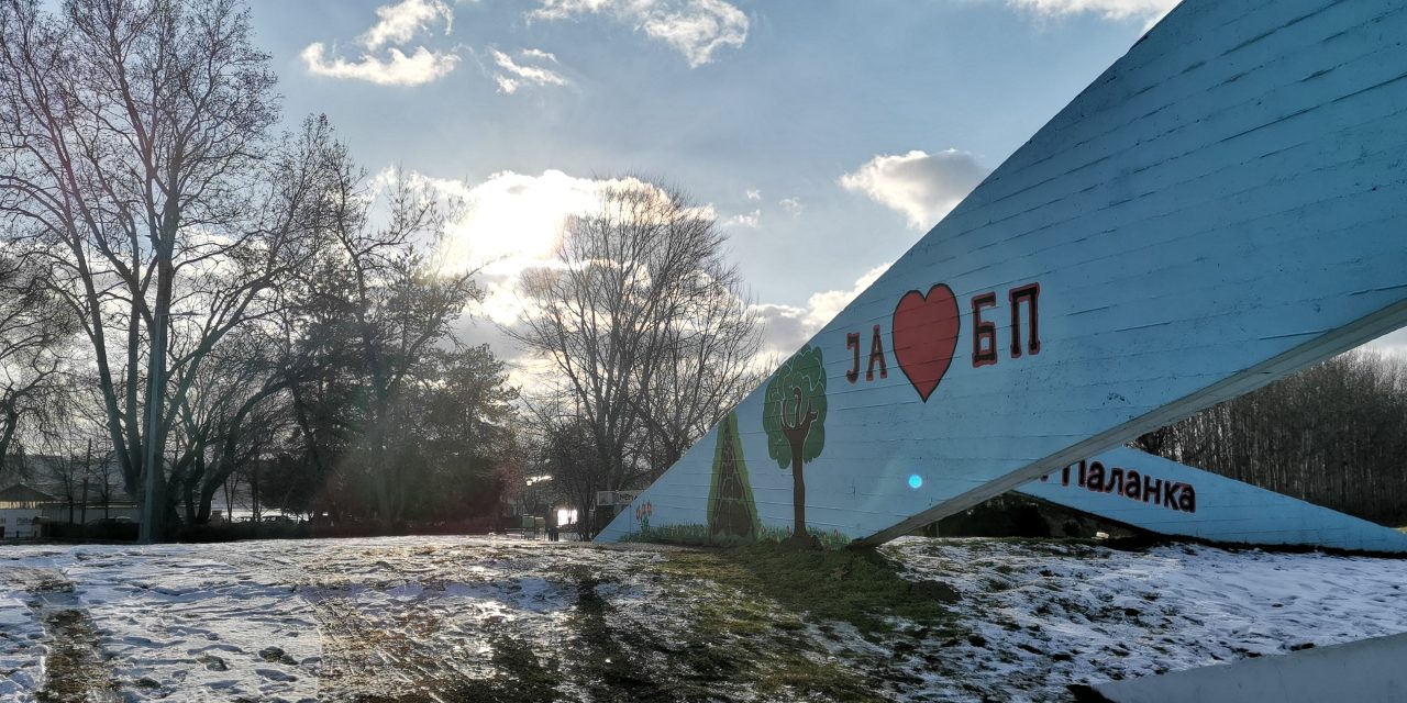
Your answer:
[[[459,65],[453,52],[425,46],[415,46],[411,53],[404,51],[415,35],[440,21],[445,22],[445,34],[449,34],[453,13],[443,0],[401,0],[377,7],[376,14],[380,20],[360,37],[366,52],[357,60],[336,56],[322,42],[312,42],[301,53],[308,73],[378,86],[421,86],[447,76]],[[383,48],[386,51],[380,52]]]

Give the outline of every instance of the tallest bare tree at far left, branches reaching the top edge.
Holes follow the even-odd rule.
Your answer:
[[[0,4],[0,217],[82,321],[128,492],[156,471],[153,536],[144,449],[315,249],[322,159],[273,157],[267,63],[235,0]]]

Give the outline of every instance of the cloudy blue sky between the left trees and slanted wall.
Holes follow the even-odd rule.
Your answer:
[[[463,336],[612,179],[682,188],[787,356],[1175,0],[252,0],[284,118],[469,205]],[[1407,350],[1407,332],[1380,349]]]

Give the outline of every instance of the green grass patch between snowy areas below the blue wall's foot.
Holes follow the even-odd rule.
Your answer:
[[[682,540],[705,530],[651,533]],[[588,697],[881,703],[892,690],[889,675],[829,651],[816,628],[833,633],[839,621],[874,637],[946,631],[944,603],[955,598],[936,583],[903,579],[872,550],[802,550],[768,540],[661,555],[650,578],[678,593],[684,617],[658,627],[622,626],[594,569],[563,574],[577,599],[560,673]]]

